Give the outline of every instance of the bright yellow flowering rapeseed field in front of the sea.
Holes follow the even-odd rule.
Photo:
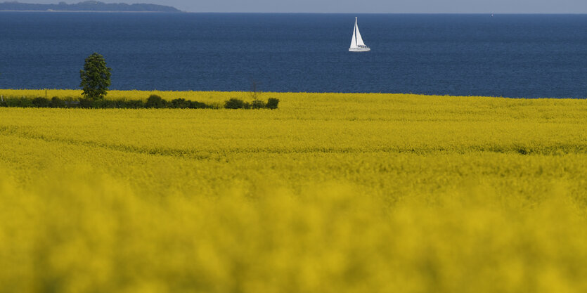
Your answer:
[[[0,292],[587,292],[587,100],[260,98],[0,108]]]

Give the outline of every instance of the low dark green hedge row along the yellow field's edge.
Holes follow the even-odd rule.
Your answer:
[[[262,100],[254,100],[252,103],[244,102],[237,98],[231,98],[224,103],[226,109],[277,109],[279,100],[269,98],[265,103]],[[160,96],[152,95],[146,101],[143,100],[91,100],[87,98],[3,98],[0,107],[21,108],[179,108],[179,109],[218,109],[219,105],[209,105],[195,100],[176,98],[165,100]]]

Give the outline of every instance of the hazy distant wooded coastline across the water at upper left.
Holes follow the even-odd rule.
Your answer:
[[[103,12],[181,12],[172,6],[156,4],[109,4],[99,1],[84,1],[78,4],[28,4],[18,2],[0,3],[0,11],[103,11]]]

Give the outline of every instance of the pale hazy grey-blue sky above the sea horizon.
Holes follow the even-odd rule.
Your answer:
[[[6,1],[6,0],[0,0]],[[20,0],[25,3],[82,0]],[[150,3],[189,12],[311,13],[587,13],[587,0],[101,0]]]

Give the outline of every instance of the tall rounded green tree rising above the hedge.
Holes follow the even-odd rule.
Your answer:
[[[106,67],[106,60],[100,54],[93,53],[86,58],[84,70],[79,71],[79,77],[82,78],[79,86],[84,90],[84,98],[101,100],[108,94],[110,71],[112,68]]]

